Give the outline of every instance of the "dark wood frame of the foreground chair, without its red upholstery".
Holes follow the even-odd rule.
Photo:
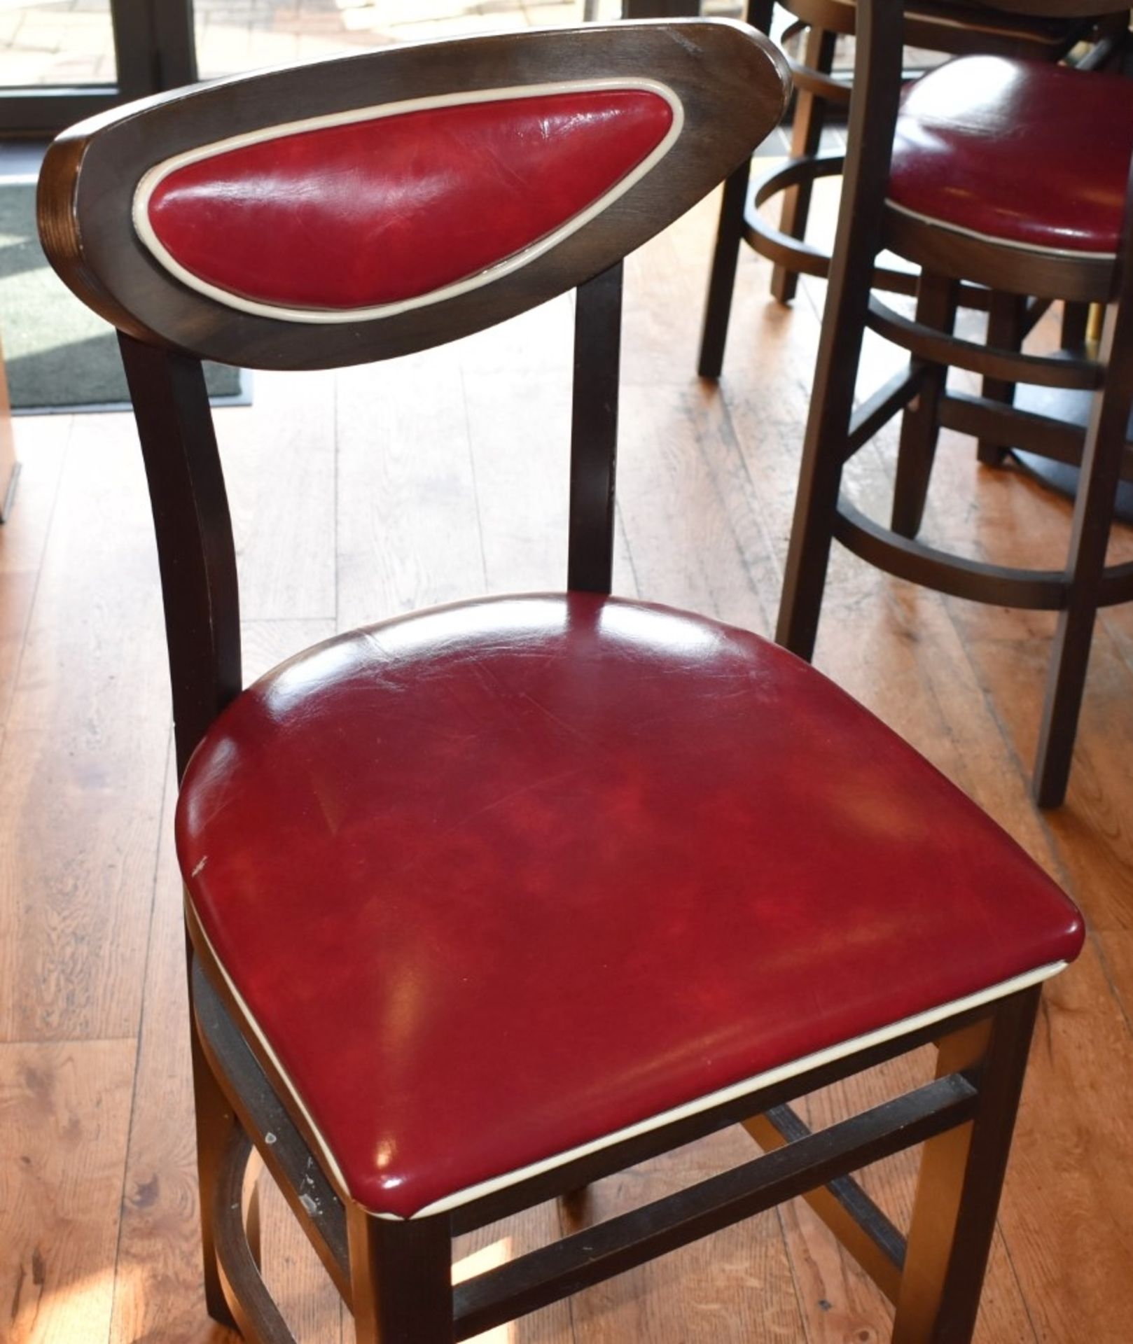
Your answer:
[[[590,46],[579,56],[567,35],[383,51],[340,62],[331,78],[324,63],[151,99],[136,112],[77,128],[52,148],[40,188],[50,255],[71,288],[120,328],[157,531],[179,775],[242,685],[235,551],[202,356],[284,368],[390,358],[492,325],[577,286],[567,583],[610,591],[620,258],[750,153],[785,99],[785,87],[766,70],[753,98],[753,73],[735,69],[734,60],[727,67],[718,60],[706,79],[727,27],[590,28]],[[532,263],[520,282],[448,301],[445,312],[347,324],[345,333],[237,313],[164,276],[125,223],[125,202],[141,172],[185,142],[208,142],[218,126],[233,133],[242,129],[241,118],[243,129],[249,118],[270,125],[281,105],[294,116],[294,108],[325,110],[363,97],[372,102],[375,71],[395,101],[402,87],[419,91],[457,70],[458,87],[469,86],[470,70],[492,87],[501,73],[509,83],[563,78],[578,60],[590,77],[597,60],[606,73],[646,69],[668,79],[688,99],[687,152],[675,155],[671,169],[655,171],[659,181],[644,179],[606,216]],[[731,129],[706,138],[718,120]],[[894,1301],[895,1340],[956,1344],[970,1337],[1038,985],[939,1020],[905,1023],[894,1039],[848,1058],[814,1056],[786,1081],[753,1086],[738,1099],[616,1141],[452,1212],[398,1222],[359,1207],[321,1165],[309,1124],[269,1052],[242,1030],[241,1008],[188,903],[187,929],[207,1306],[246,1339],[293,1344],[258,1270],[255,1199],[243,1198],[253,1152],[284,1191],[364,1344],[466,1339],[796,1195],[812,1202]],[[790,1109],[805,1093],[930,1042],[938,1063],[935,1078],[922,1087],[819,1133]],[[452,1286],[453,1235],[564,1198],[732,1124],[747,1128],[762,1156]],[[906,1239],[849,1173],[922,1142]]]

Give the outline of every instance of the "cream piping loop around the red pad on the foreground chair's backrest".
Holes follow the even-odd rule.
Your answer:
[[[672,125],[665,133],[664,140],[661,140],[661,142],[652,149],[636,168],[630,169],[625,177],[614,183],[614,185],[605,195],[591,202],[591,204],[589,204],[585,210],[573,215],[564,224],[560,224],[544,238],[536,239],[536,242],[531,243],[528,247],[513,253],[511,257],[505,257],[503,261],[488,266],[485,270],[481,270],[474,276],[466,276],[464,280],[453,281],[450,285],[434,289],[427,294],[418,294],[414,298],[403,298],[392,304],[378,304],[371,308],[348,309],[288,308],[282,304],[265,304],[254,298],[245,298],[242,294],[234,294],[231,290],[222,289],[219,285],[212,285],[210,281],[202,280],[191,270],[187,270],[168,251],[149,222],[151,198],[165,177],[169,176],[169,173],[173,173],[179,168],[184,168],[188,164],[200,163],[203,159],[212,159],[216,155],[227,153],[233,149],[242,149],[246,145],[263,144],[270,140],[280,140],[288,134],[321,130],[328,126],[347,126],[364,121],[382,121],[386,117],[399,117],[410,112],[426,112],[433,108],[461,108],[478,102],[503,102],[509,98],[539,98],[546,94],[590,93],[603,89],[641,89],[664,98],[673,116]],[[460,294],[466,294],[473,289],[480,289],[484,285],[491,285],[493,281],[497,281],[515,270],[520,270],[538,257],[550,251],[552,247],[556,247],[564,238],[569,238],[571,234],[582,228],[583,224],[590,223],[591,219],[601,215],[620,196],[624,196],[630,187],[636,185],[648,172],[651,172],[676,144],[683,128],[684,106],[680,98],[668,85],[664,85],[657,79],[573,79],[542,85],[517,85],[507,89],[481,89],[473,93],[438,94],[433,98],[409,98],[403,102],[382,103],[374,108],[356,108],[351,112],[336,112],[324,117],[308,117],[302,121],[286,121],[280,125],[265,126],[261,130],[247,130],[243,134],[231,136],[227,140],[215,140],[212,144],[200,145],[196,149],[187,149],[184,153],[173,155],[171,159],[165,159],[149,168],[138,181],[137,188],[134,190],[132,210],[133,226],[141,242],[165,270],[168,270],[172,276],[176,276],[176,278],[180,280],[181,284],[188,285],[190,289],[195,289],[199,294],[206,294],[208,298],[215,300],[218,304],[223,304],[226,308],[235,308],[245,313],[255,313],[259,317],[274,317],[277,321],[286,323],[356,323],[370,321],[379,317],[395,317],[398,313],[406,313],[414,308],[425,308],[430,304],[439,304],[445,300],[456,298]]]

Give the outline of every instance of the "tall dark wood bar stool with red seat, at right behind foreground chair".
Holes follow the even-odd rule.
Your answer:
[[[1047,8],[1075,11],[1056,0]],[[899,43],[883,31],[898,22],[895,0],[872,0],[871,12],[868,40],[859,39],[856,148],[847,165],[777,637],[810,656],[833,538],[938,591],[1058,612],[1034,785],[1038,801],[1055,806],[1066,793],[1097,609],[1133,598],[1133,566],[1105,564],[1117,482],[1130,474],[1124,445],[1133,395],[1133,282],[1118,258],[1129,246],[1133,83],[961,58],[918,81],[898,118]],[[870,266],[883,246],[922,267],[915,320],[868,293]],[[952,333],[972,284],[1000,292],[987,344]],[[1054,298],[1109,305],[1097,358],[1019,353],[1035,314]],[[910,363],[853,411],[867,327],[909,349]],[[982,395],[948,388],[950,367],[984,375]],[[1046,413],[1028,409],[1021,388],[1013,405],[1016,384],[1032,384],[1039,396],[1048,395],[1040,388],[1093,395],[1089,431],[1051,414],[1058,407],[1050,401]],[[840,500],[839,487],[845,461],[899,413],[886,528]],[[915,539],[939,426],[978,437],[992,456],[1017,446],[1082,462],[1063,569],[1013,570]]]

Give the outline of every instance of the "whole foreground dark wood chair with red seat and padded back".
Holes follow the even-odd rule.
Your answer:
[[[152,493],[207,1301],[249,1340],[290,1340],[250,1145],[366,1344],[477,1335],[798,1193],[895,1337],[969,1337],[1081,918],[804,663],[609,595],[621,258],[786,94],[741,24],[620,23],[223,81],[48,153],[44,243],[121,332]],[[575,286],[569,591],[352,630],[242,689],[200,359],[386,359]],[[907,1095],[813,1134],[790,1110],[927,1042]],[[456,1232],[737,1122],[763,1156],[452,1286]],[[919,1142],[906,1249],[848,1173]]]

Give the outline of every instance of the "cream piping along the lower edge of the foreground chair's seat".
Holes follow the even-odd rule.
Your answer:
[[[190,909],[192,909],[192,902],[188,895],[185,896],[185,900],[188,902]],[[202,938],[204,938],[204,942],[208,946],[214,964],[220,970],[220,974],[224,977],[224,984],[228,986],[228,992],[239,1005],[246,1025],[259,1042],[265,1055],[267,1055],[271,1060],[281,1081],[286,1085],[292,1101],[306,1121],[310,1134],[316,1140],[316,1146],[319,1148],[325,1169],[333,1173],[335,1180],[339,1184],[339,1189],[345,1193],[348,1189],[347,1183],[343,1179],[339,1164],[331,1154],[331,1148],[327,1144],[327,1140],[323,1137],[321,1130],[312,1120],[310,1111],[304,1105],[302,1098],[288,1077],[286,1070],[280,1063],[276,1051],[259,1030],[259,1023],[251,1015],[247,1004],[241,996],[241,992],[233,984],[228,972],[224,969],[224,964],[216,956],[216,949],[212,946],[208,934],[204,931],[204,926],[196,917],[195,910],[192,911],[192,915],[196,927],[200,930]],[[636,1125],[628,1125],[625,1129],[618,1129],[612,1134],[603,1134],[601,1138],[595,1138],[589,1144],[579,1144],[577,1148],[571,1148],[564,1153],[555,1153],[552,1157],[544,1157],[542,1161],[531,1163],[528,1167],[520,1167],[517,1171],[504,1172],[501,1176],[492,1176],[489,1180],[480,1181],[476,1185],[466,1185],[464,1189],[454,1191],[452,1195],[445,1195],[442,1199],[434,1200],[431,1204],[426,1204],[425,1208],[411,1214],[410,1220],[414,1218],[429,1218],[433,1214],[450,1212],[454,1208],[460,1208],[462,1204],[470,1204],[476,1199],[482,1199],[485,1195],[495,1195],[497,1191],[507,1189],[509,1185],[517,1185],[520,1181],[527,1180],[531,1176],[539,1176],[543,1172],[554,1171],[555,1167],[564,1167],[567,1163],[573,1163],[578,1157],[598,1153],[603,1148],[613,1148],[614,1144],[620,1144],[626,1138],[637,1138],[638,1134],[648,1134],[655,1129],[663,1129],[665,1125],[671,1125],[677,1120],[685,1120],[688,1116],[699,1116],[702,1111],[711,1110],[714,1106],[743,1097],[745,1093],[757,1091],[762,1087],[771,1087],[775,1083],[785,1082],[788,1078],[805,1074],[812,1068],[821,1068],[823,1064],[833,1063],[837,1059],[848,1059],[851,1055],[856,1055],[863,1050],[871,1050],[874,1046],[882,1046],[888,1040],[896,1040],[898,1036],[919,1031],[922,1027],[931,1027],[934,1021],[942,1021],[945,1017],[953,1017],[958,1013],[968,1012],[972,1008],[980,1008],[984,1004],[993,1003],[996,999],[1005,999],[1008,995],[1017,993],[1020,989],[1028,989],[1031,985],[1038,985],[1044,980],[1050,980],[1051,976],[1056,976],[1059,972],[1066,970],[1067,965],[1068,962],[1066,961],[1052,961],[1046,966],[1039,966],[1038,970],[1028,970],[1025,974],[1015,976],[1012,980],[1003,981],[1003,984],[992,985],[991,989],[981,989],[978,993],[968,995],[965,999],[957,999],[953,1003],[942,1004],[939,1008],[929,1008],[926,1012],[914,1013],[911,1017],[905,1017],[902,1021],[891,1023],[888,1027],[880,1027],[878,1031],[867,1032],[864,1036],[853,1036],[836,1046],[828,1046],[825,1050],[819,1050],[812,1055],[804,1055],[801,1059],[793,1059],[790,1063],[780,1064],[777,1068],[769,1068],[766,1073],[755,1074],[754,1078],[746,1078],[743,1082],[732,1083],[730,1087],[722,1087],[718,1091],[708,1093],[707,1097],[698,1097],[696,1101],[685,1102],[683,1106],[675,1106],[672,1110],[663,1111],[660,1116],[651,1116],[648,1120],[638,1121]],[[375,1214],[374,1216],[384,1218],[395,1223],[406,1222],[406,1219],[398,1216],[396,1214]]]

